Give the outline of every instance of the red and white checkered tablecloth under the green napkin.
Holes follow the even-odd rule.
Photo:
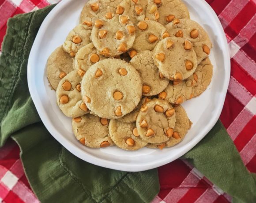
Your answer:
[[[9,17],[56,2],[0,0],[0,43]],[[217,13],[230,48],[230,85],[220,119],[246,167],[256,173],[256,0],[207,2]],[[159,167],[158,172],[161,190],[154,203],[225,203],[232,199],[184,161]],[[0,149],[0,202],[39,202],[24,174],[19,147],[11,140]]]

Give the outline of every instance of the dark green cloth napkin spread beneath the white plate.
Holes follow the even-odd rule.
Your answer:
[[[27,60],[53,7],[8,21],[0,56],[0,147],[10,136],[19,144],[26,176],[41,202],[150,202],[159,191],[157,169],[130,173],[84,162],[53,139],[38,116],[27,86]],[[256,176],[245,168],[220,121],[182,158],[233,202],[256,202]]]

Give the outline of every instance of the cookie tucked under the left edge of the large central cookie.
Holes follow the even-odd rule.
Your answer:
[[[89,113],[86,104],[82,101],[80,82],[81,78],[77,72],[72,71],[60,80],[57,87],[57,104],[67,117],[75,118]]]

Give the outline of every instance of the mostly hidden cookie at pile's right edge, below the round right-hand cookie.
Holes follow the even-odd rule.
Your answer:
[[[211,83],[213,65],[209,58],[204,59],[196,68],[196,71],[188,78],[192,83],[192,96],[197,97],[202,94]]]

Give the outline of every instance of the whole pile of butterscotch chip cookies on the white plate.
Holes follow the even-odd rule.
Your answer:
[[[87,147],[172,147],[181,106],[211,82],[212,44],[181,0],[89,0],[47,63],[60,110]]]

